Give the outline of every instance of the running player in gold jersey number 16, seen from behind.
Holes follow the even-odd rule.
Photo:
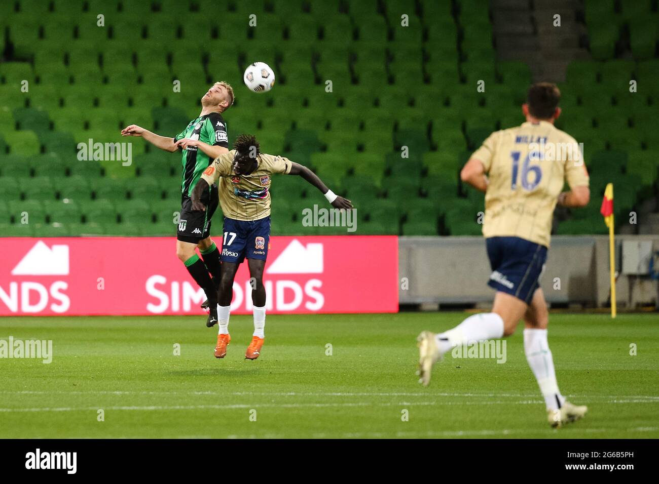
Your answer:
[[[590,198],[588,173],[577,142],[557,129],[560,92],[554,84],[530,87],[526,122],[492,133],[461,171],[461,179],[485,192],[483,235],[496,289],[491,313],[475,314],[449,331],[418,336],[420,383],[428,385],[434,363],[455,346],[515,333],[525,321],[527,361],[544,396],[552,427],[583,417],[558,390],[547,342],[548,311],[539,279],[550,244],[556,204],[583,207]],[[570,190],[561,192],[567,181]]]

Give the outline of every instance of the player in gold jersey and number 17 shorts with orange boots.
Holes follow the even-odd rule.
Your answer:
[[[247,259],[252,278],[254,304],[254,334],[245,358],[256,360],[261,352],[266,325],[263,270],[270,241],[270,184],[274,173],[300,175],[318,188],[333,207],[353,207],[350,200],[335,195],[310,169],[281,156],[260,153],[254,136],[239,136],[233,150],[215,158],[192,191],[192,209],[205,210],[202,195],[217,183],[219,204],[224,213],[221,277],[217,294],[219,333],[215,358],[224,358],[231,341],[229,311],[233,279],[244,259]]]

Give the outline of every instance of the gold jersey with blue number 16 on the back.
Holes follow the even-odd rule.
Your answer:
[[[549,247],[552,216],[565,182],[588,186],[572,136],[547,121],[496,131],[474,151],[488,175],[485,237],[520,237]]]

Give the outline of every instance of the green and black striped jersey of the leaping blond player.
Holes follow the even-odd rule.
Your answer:
[[[219,113],[210,113],[193,119],[185,130],[174,137],[174,142],[183,138],[200,140],[212,146],[223,146],[229,148],[229,137],[227,136],[227,123]],[[183,176],[181,177],[181,193],[190,196],[192,188],[196,185],[202,172],[208,168],[213,159],[204,155],[203,151],[196,146],[190,146],[183,150]]]

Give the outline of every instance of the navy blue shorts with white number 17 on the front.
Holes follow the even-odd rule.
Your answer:
[[[224,217],[222,262],[241,263],[247,259],[266,260],[270,244],[270,217],[235,220]]]

